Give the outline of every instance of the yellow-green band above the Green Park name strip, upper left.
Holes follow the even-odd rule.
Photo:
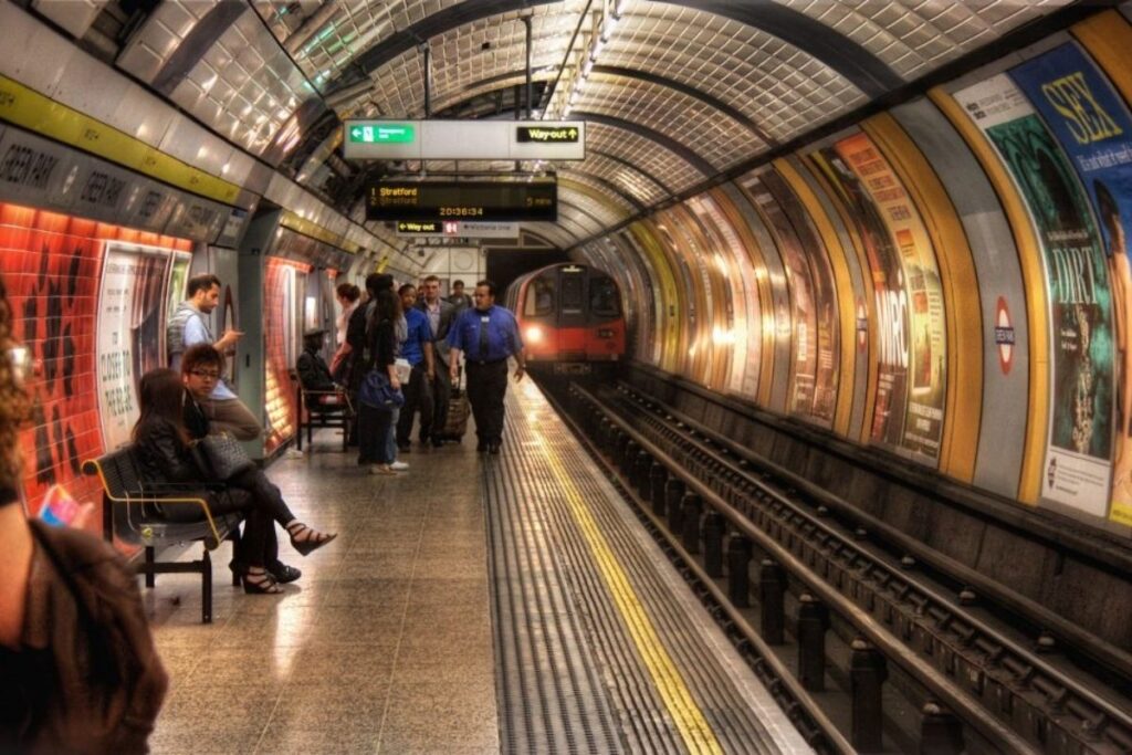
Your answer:
[[[240,187],[0,76],[0,119],[186,191],[235,204]]]

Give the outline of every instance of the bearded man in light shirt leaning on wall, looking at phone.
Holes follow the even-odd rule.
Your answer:
[[[190,346],[205,343],[225,353],[243,335],[239,331],[226,331],[217,341],[205,323],[205,316],[220,304],[218,277],[211,273],[195,275],[189,278],[187,292],[189,298],[178,304],[165,332],[169,364],[175,370],[181,368],[181,354]],[[223,379],[216,381],[212,394],[200,404],[214,431],[228,431],[237,440],[255,440],[264,434],[259,420]]]

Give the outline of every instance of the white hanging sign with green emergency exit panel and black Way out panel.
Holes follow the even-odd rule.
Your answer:
[[[585,160],[584,121],[346,120],[348,160]]]

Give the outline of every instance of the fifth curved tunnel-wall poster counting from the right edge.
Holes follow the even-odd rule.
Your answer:
[[[774,170],[765,171],[760,178],[789,218],[799,248],[806,252],[804,261],[809,268],[812,295],[817,308],[817,364],[812,413],[829,426],[833,423],[838,401],[838,294],[833,268],[825,246],[809,225],[809,215],[790,185]]]

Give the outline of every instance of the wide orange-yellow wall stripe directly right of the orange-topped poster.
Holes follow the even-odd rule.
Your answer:
[[[863,128],[892,162],[935,247],[947,323],[947,397],[940,471],[970,482],[983,419],[983,304],[967,232],[940,177],[897,119],[882,113],[865,121]]]

